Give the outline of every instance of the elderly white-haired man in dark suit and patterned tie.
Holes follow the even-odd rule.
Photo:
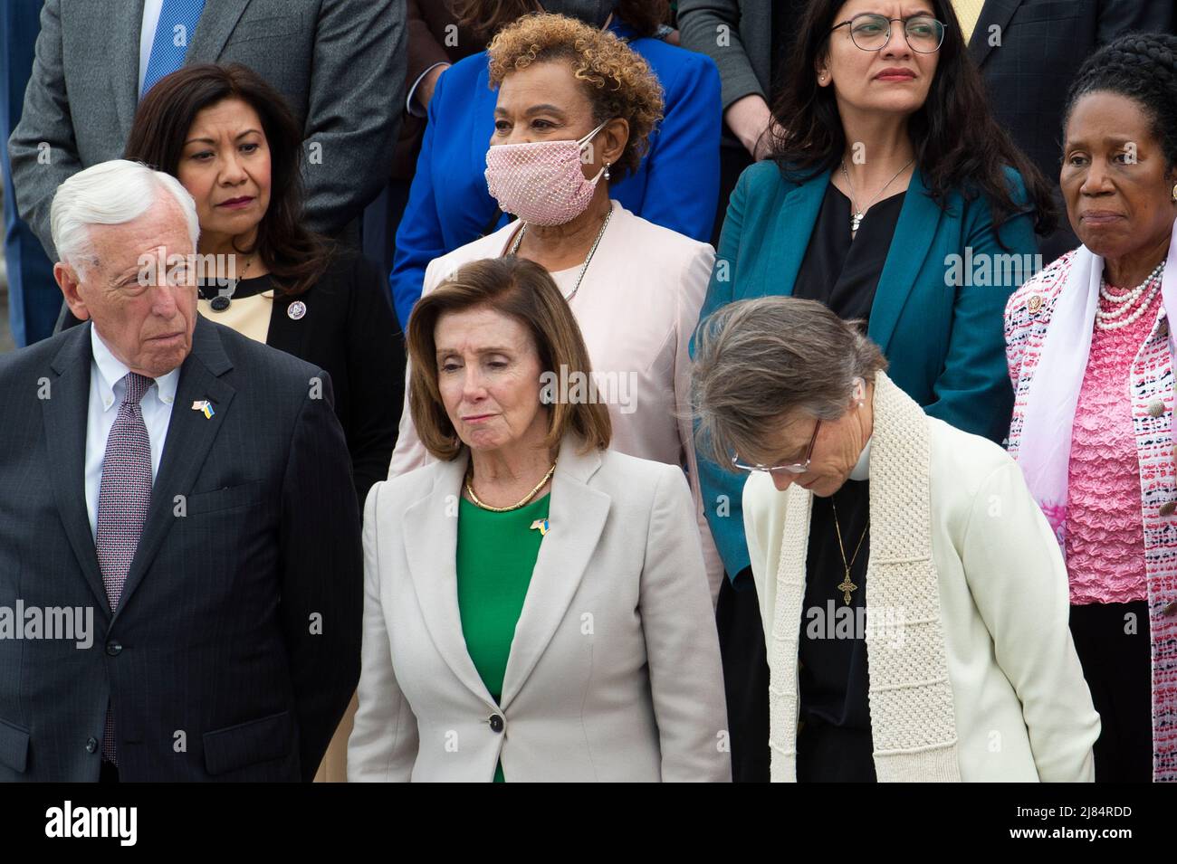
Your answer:
[[[308,781],[359,678],[331,381],[198,316],[167,174],[87,168],[52,227],[87,323],[0,359],[0,782]]]

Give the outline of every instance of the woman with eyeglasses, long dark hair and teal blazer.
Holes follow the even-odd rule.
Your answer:
[[[1000,442],[1013,401],[1003,310],[1053,214],[1045,181],[988,110],[951,4],[814,0],[789,66],[773,158],[737,183],[701,317],[745,297],[817,300],[866,322],[895,383],[929,415]],[[763,765],[767,672],[749,636],[759,625],[740,481],[703,461],[700,480],[733,581],[718,600],[733,758],[754,748]],[[852,488],[834,497],[839,522],[814,542],[837,555],[837,530],[857,541],[867,501]]]

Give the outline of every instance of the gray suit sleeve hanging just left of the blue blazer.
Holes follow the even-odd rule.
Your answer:
[[[405,86],[405,0],[324,0],[306,119],[306,214],[337,234],[392,169]]]

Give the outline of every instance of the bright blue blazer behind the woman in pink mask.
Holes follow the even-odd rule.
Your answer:
[[[641,165],[624,180],[614,178],[610,197],[637,216],[709,242],[719,202],[723,125],[716,65],[659,39],[634,39],[625,24],[610,29],[650,63],[665,100],[665,116],[651,133]],[[484,173],[497,101],[486,52],[454,63],[438,79],[388,277],[401,327],[421,296],[430,261],[480,237],[498,210]],[[511,219],[500,216],[492,230]]]

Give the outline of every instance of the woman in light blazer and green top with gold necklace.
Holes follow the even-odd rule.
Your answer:
[[[466,264],[408,328],[435,458],[373,487],[352,781],[729,781],[719,645],[677,467],[610,450],[544,268]]]

